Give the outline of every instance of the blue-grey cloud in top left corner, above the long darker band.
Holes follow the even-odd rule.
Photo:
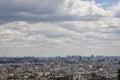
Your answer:
[[[55,2],[55,4],[53,4]],[[34,14],[54,13],[61,0],[0,0],[1,13],[29,12]]]

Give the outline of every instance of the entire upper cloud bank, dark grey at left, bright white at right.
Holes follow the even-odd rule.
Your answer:
[[[119,3],[104,9],[94,0],[0,0],[0,16],[0,23],[96,21],[119,17]]]

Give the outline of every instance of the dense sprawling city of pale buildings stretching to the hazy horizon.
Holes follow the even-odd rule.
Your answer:
[[[0,80],[117,80],[118,56],[0,57]]]

